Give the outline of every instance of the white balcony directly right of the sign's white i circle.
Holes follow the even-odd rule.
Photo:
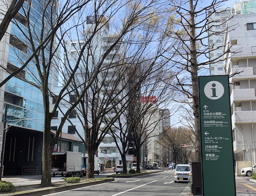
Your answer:
[[[230,101],[256,100],[255,88],[234,89],[230,95]]]

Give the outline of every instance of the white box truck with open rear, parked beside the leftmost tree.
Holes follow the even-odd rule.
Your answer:
[[[81,152],[53,152],[51,176],[83,176]]]

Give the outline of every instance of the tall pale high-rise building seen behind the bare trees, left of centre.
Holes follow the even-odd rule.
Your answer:
[[[92,112],[96,111],[99,108],[93,108],[93,107],[98,107],[97,104],[93,100],[93,97],[97,96],[98,99],[98,104],[103,107],[104,100],[106,100],[106,96],[108,95],[108,92],[112,93],[112,89],[114,88],[113,86],[115,85],[115,82],[113,79],[115,78],[115,74],[118,73],[119,70],[117,69],[117,66],[119,64],[120,59],[124,59],[124,45],[123,44],[117,44],[115,45],[110,53],[103,59],[102,56],[105,53],[107,49],[113,44],[113,42],[116,40],[115,35],[112,35],[109,32],[109,23],[106,22],[106,19],[104,17],[100,17],[97,19],[101,19],[101,23],[104,24],[95,35],[93,35],[92,41],[89,42],[89,44],[86,46],[86,49],[83,53],[82,59],[79,63],[80,67],[76,71],[76,80],[77,82],[84,82],[83,76],[87,76],[90,74],[95,73],[95,68],[98,66],[101,67],[101,73],[97,75],[97,79],[93,82],[93,87],[89,88],[88,92],[88,105],[87,111],[88,111],[88,122],[91,123],[92,120]],[[71,68],[75,67],[75,64],[78,62],[78,56],[81,53],[81,48],[85,45],[85,42],[88,41],[88,37],[91,36],[93,29],[96,28],[96,21],[94,16],[89,16],[87,17],[87,28],[84,30],[84,37],[81,39],[76,39],[76,40],[69,40],[66,41],[66,50],[68,53],[68,60],[69,60],[69,65]],[[101,60],[103,59],[102,65],[100,65]],[[85,71],[87,69],[87,71]],[[84,71],[84,73],[83,73]],[[66,73],[64,74],[69,74],[69,70],[66,70]],[[121,83],[121,82],[120,82]],[[111,84],[113,86],[111,86]],[[97,86],[98,85],[98,86]],[[101,86],[102,85],[102,86]],[[121,85],[121,84],[120,84]],[[122,88],[120,88],[122,89]],[[57,89],[56,89],[57,90]],[[115,89],[116,91],[120,91],[118,87]],[[97,92],[96,92],[97,91]],[[97,95],[96,95],[96,94]],[[56,91],[56,94],[58,92]],[[71,93],[72,94],[72,93]],[[78,95],[67,95],[65,97],[66,100],[69,100],[70,103],[68,102],[63,102],[62,101],[62,110],[64,112],[67,111],[66,105],[70,105],[73,102],[76,101],[76,97]],[[70,96],[70,97],[69,97]],[[114,96],[115,99],[118,99],[118,96]],[[122,97],[121,97],[122,98]],[[111,104],[109,106],[111,107]],[[76,109],[77,115],[82,115],[81,112]],[[60,123],[60,116],[61,114],[58,114],[59,119],[52,120],[52,127],[57,128],[58,124]],[[115,116],[115,110],[112,109],[109,111],[108,114],[105,115],[106,119],[111,119],[112,117]],[[81,121],[78,119],[75,113],[70,113],[69,115],[69,120],[72,122],[72,124],[75,126],[76,130],[79,132],[79,135],[84,138],[84,128],[82,127]],[[127,124],[125,118],[120,118],[123,120],[123,122],[120,122],[123,126]],[[72,124],[69,121],[66,121],[63,128],[62,132],[63,133],[70,133],[74,135],[75,137],[79,138],[78,133],[75,132],[75,129],[73,128]],[[84,122],[83,122],[84,123]],[[101,126],[104,127],[105,124],[101,122]],[[90,125],[88,125],[90,126]],[[125,127],[120,127],[119,122],[116,121],[114,125],[111,127],[112,131],[116,134],[118,134],[120,131],[125,129]],[[120,142],[120,139],[116,137],[116,141],[118,143],[118,146],[122,146],[122,143]],[[58,143],[59,145],[59,143]],[[85,149],[84,155],[86,156],[87,150]],[[96,153],[99,157],[99,162],[102,165],[102,168],[111,168],[114,167],[115,165],[122,164],[122,159],[118,150],[118,147],[115,143],[115,140],[111,134],[105,135],[103,138],[102,142],[100,143],[98,147],[98,152]],[[127,154],[127,163],[129,163],[129,156]],[[105,160],[106,164],[105,164]]]

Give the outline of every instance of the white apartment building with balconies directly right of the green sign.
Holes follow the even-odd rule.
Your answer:
[[[250,5],[250,6],[248,6]],[[230,75],[230,104],[236,161],[256,162],[256,9],[255,1],[238,3],[239,15],[227,21],[224,67]],[[229,17],[230,18],[230,17]],[[251,158],[252,157],[252,158]]]

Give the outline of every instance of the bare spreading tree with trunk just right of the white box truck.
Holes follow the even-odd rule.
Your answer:
[[[79,104],[74,108],[76,117],[84,130],[84,136],[80,134],[79,136],[84,141],[88,152],[87,178],[94,177],[94,153],[97,151],[104,136],[111,132],[111,127],[113,126],[118,126],[119,129],[122,129],[120,131],[120,134],[122,132],[120,138],[124,141],[122,148],[124,158],[122,156],[122,159],[125,160],[128,142],[126,136],[131,131],[128,131],[127,124],[121,123],[121,119],[124,118],[122,114],[127,111],[131,99],[134,99],[133,95],[136,95],[134,91],[137,92],[141,88],[141,86],[134,85],[133,88],[129,86],[131,81],[134,80],[133,75],[129,73],[132,69],[131,67],[139,67],[138,64],[141,62],[138,61],[138,58],[140,56],[144,56],[144,59],[140,58],[140,61],[150,62],[149,67],[144,67],[144,74],[140,78],[142,81],[143,79],[148,80],[150,74],[154,72],[163,72],[163,66],[166,64],[166,61],[162,62],[161,65],[156,63],[160,58],[159,42],[160,44],[163,43],[162,40],[157,40],[155,36],[159,33],[156,31],[157,26],[154,27],[154,30],[149,28],[150,22],[156,20],[156,11],[158,9],[155,8],[155,5],[160,5],[160,3],[158,1],[141,1],[140,3],[143,6],[138,6],[138,2],[133,1],[124,6],[125,14],[121,19],[122,28],[112,24],[112,17],[105,18],[103,15],[94,15],[87,17],[87,21],[89,19],[91,23],[87,23],[86,29],[81,34],[80,31],[76,32],[76,37],[79,38],[78,42],[85,42],[87,46],[83,53],[80,48],[76,48],[76,52],[81,54],[82,60],[79,62],[78,71],[67,90],[69,96],[80,97],[81,92],[84,92],[87,85],[88,78],[91,78],[98,69],[97,78],[86,89],[85,94],[78,101]],[[114,15],[116,12],[113,11],[111,14]],[[98,23],[105,27],[98,30]],[[115,31],[112,30],[112,33],[111,25],[117,29]],[[88,39],[91,37],[91,33],[94,33],[95,36]],[[68,36],[72,40],[72,35]],[[155,46],[150,45],[151,41],[155,41],[157,44]],[[65,47],[65,43],[63,43],[63,47]],[[153,57],[145,58],[146,54],[153,53],[152,51],[156,54]],[[65,67],[63,68],[64,81],[67,81],[66,77],[69,78],[69,72],[71,73],[72,71],[74,66],[72,61],[69,57],[65,59]],[[165,69],[165,71],[168,73],[169,68]],[[157,77],[155,76],[155,78]],[[164,89],[164,87],[162,88]],[[139,97],[135,99],[139,99]],[[66,103],[63,103],[64,106],[66,105],[66,109],[70,107],[70,104],[73,104],[69,99],[66,99]],[[65,112],[63,110],[63,115]],[[68,120],[74,125],[72,120]],[[78,133],[78,131],[76,132]]]

